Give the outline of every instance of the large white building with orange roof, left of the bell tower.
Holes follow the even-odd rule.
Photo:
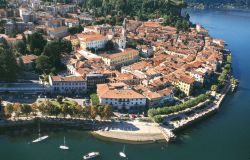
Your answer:
[[[99,33],[88,32],[77,35],[80,40],[80,46],[82,49],[101,49],[104,48],[108,42],[108,38]]]

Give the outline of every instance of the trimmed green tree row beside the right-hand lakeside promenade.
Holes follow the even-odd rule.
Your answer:
[[[198,97],[191,99],[189,101],[186,101],[182,104],[178,104],[178,105],[170,106],[170,107],[163,107],[163,108],[152,108],[148,110],[148,115],[151,119],[156,120],[156,119],[159,119],[160,115],[167,115],[170,113],[179,112],[187,108],[194,107],[198,105],[199,103],[204,102],[209,97],[210,97],[210,94],[201,94]]]

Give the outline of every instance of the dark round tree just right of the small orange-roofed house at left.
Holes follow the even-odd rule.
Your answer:
[[[36,70],[39,73],[49,74],[51,72],[52,64],[50,58],[45,55],[41,55],[36,60]]]

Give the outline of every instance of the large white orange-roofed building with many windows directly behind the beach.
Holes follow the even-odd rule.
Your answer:
[[[124,83],[98,84],[97,95],[101,105],[110,105],[121,112],[141,112],[146,107],[146,97]]]

